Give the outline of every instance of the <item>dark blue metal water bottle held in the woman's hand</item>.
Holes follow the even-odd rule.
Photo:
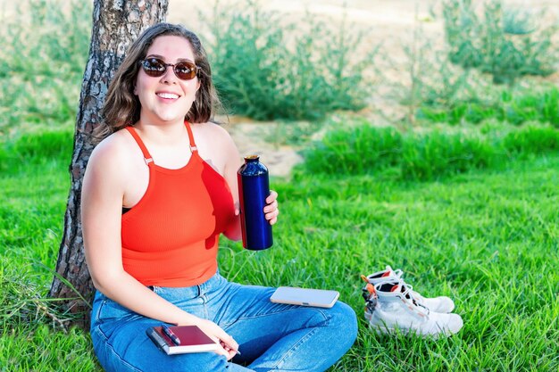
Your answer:
[[[268,169],[259,161],[258,155],[246,156],[237,172],[240,199],[243,247],[253,251],[270,248],[270,222],[264,217],[266,198],[270,195]]]

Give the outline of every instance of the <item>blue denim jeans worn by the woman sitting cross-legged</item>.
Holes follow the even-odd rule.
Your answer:
[[[343,302],[331,309],[272,303],[274,288],[230,283],[219,273],[201,285],[150,288],[180,309],[218,324],[242,354],[231,361],[214,352],[167,355],[146,335],[160,321],[97,292],[91,338],[106,371],[323,371],[357,335],[355,311]]]

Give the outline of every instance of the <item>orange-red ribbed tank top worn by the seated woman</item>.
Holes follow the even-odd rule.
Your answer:
[[[143,285],[204,283],[217,271],[219,236],[235,219],[227,182],[200,157],[185,126],[192,155],[180,169],[155,164],[136,130],[127,128],[144,154],[149,183],[122,215],[122,264]]]

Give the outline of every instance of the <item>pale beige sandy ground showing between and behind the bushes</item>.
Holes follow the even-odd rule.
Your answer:
[[[455,0],[459,1],[459,0]],[[475,1],[475,0],[474,0]],[[170,0],[168,21],[185,24],[197,33],[203,33],[204,24],[200,20],[199,12],[211,19],[214,1],[194,2]],[[237,4],[237,5],[236,5]],[[319,17],[329,21],[333,27],[340,22],[348,21],[351,29],[364,29],[371,35],[371,45],[382,43],[382,53],[389,56],[387,66],[390,79],[406,79],[409,76],[409,61],[404,52],[404,45],[412,45],[414,32],[421,32],[422,37],[434,40],[434,44],[444,43],[444,31],[438,0],[261,0],[259,2],[264,12],[281,14],[288,20],[300,20],[302,29],[306,17]],[[242,7],[233,0],[221,0],[219,7]],[[505,6],[521,6],[537,11],[546,7],[548,14],[559,19],[558,0],[505,0]],[[209,17],[209,18],[208,18]],[[364,43],[365,47],[367,43]],[[436,46],[434,46],[436,47]],[[401,75],[401,76],[398,76]],[[405,109],[400,107],[394,97],[383,90],[382,85],[370,97],[371,110],[365,115],[381,120],[387,116],[405,115]],[[380,113],[376,108],[382,107]],[[375,115],[380,113],[380,115]],[[274,146],[263,139],[266,133],[273,131],[276,123],[254,122],[245,118],[229,118],[226,126],[234,137],[242,155],[258,153],[262,161],[268,165],[271,175],[288,176],[289,170],[299,161],[301,156],[296,149],[289,146]],[[269,136],[268,136],[269,137]]]

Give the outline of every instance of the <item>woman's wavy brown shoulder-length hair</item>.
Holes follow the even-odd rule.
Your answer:
[[[121,66],[114,73],[101,111],[103,120],[94,134],[97,140],[100,141],[105,136],[138,122],[141,104],[138,96],[134,95],[134,86],[140,68],[138,61],[146,58],[147,50],[154,39],[161,36],[186,38],[192,45],[194,62],[199,67],[197,77],[200,88],[185,119],[191,123],[203,123],[211,120],[213,112],[222,108],[213,87],[212,70],[200,38],[181,25],[158,23],[142,32],[129,46]]]

